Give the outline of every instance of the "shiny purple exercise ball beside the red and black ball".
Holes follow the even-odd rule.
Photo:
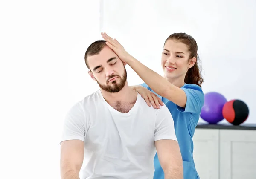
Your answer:
[[[222,108],[227,99],[218,92],[208,92],[204,95],[204,105],[200,117],[209,124],[223,120]]]

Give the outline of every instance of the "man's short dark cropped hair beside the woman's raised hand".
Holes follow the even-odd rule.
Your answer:
[[[99,54],[99,52],[101,52],[105,46],[107,46],[105,40],[98,40],[90,44],[90,46],[87,48],[84,55],[84,61],[88,69],[90,69],[87,63],[88,56]]]

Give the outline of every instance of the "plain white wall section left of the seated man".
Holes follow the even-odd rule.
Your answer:
[[[59,179],[64,115],[98,88],[99,0],[1,1],[0,17],[0,178]]]

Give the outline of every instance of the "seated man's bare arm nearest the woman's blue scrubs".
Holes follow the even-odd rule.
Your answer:
[[[157,156],[163,168],[165,179],[183,179],[183,165],[180,147],[175,140],[155,141]]]

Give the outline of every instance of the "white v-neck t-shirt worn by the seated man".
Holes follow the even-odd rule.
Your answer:
[[[149,107],[138,94],[128,113],[120,113],[100,90],[71,107],[61,141],[84,141],[82,179],[153,179],[154,141],[176,140],[166,106]]]

